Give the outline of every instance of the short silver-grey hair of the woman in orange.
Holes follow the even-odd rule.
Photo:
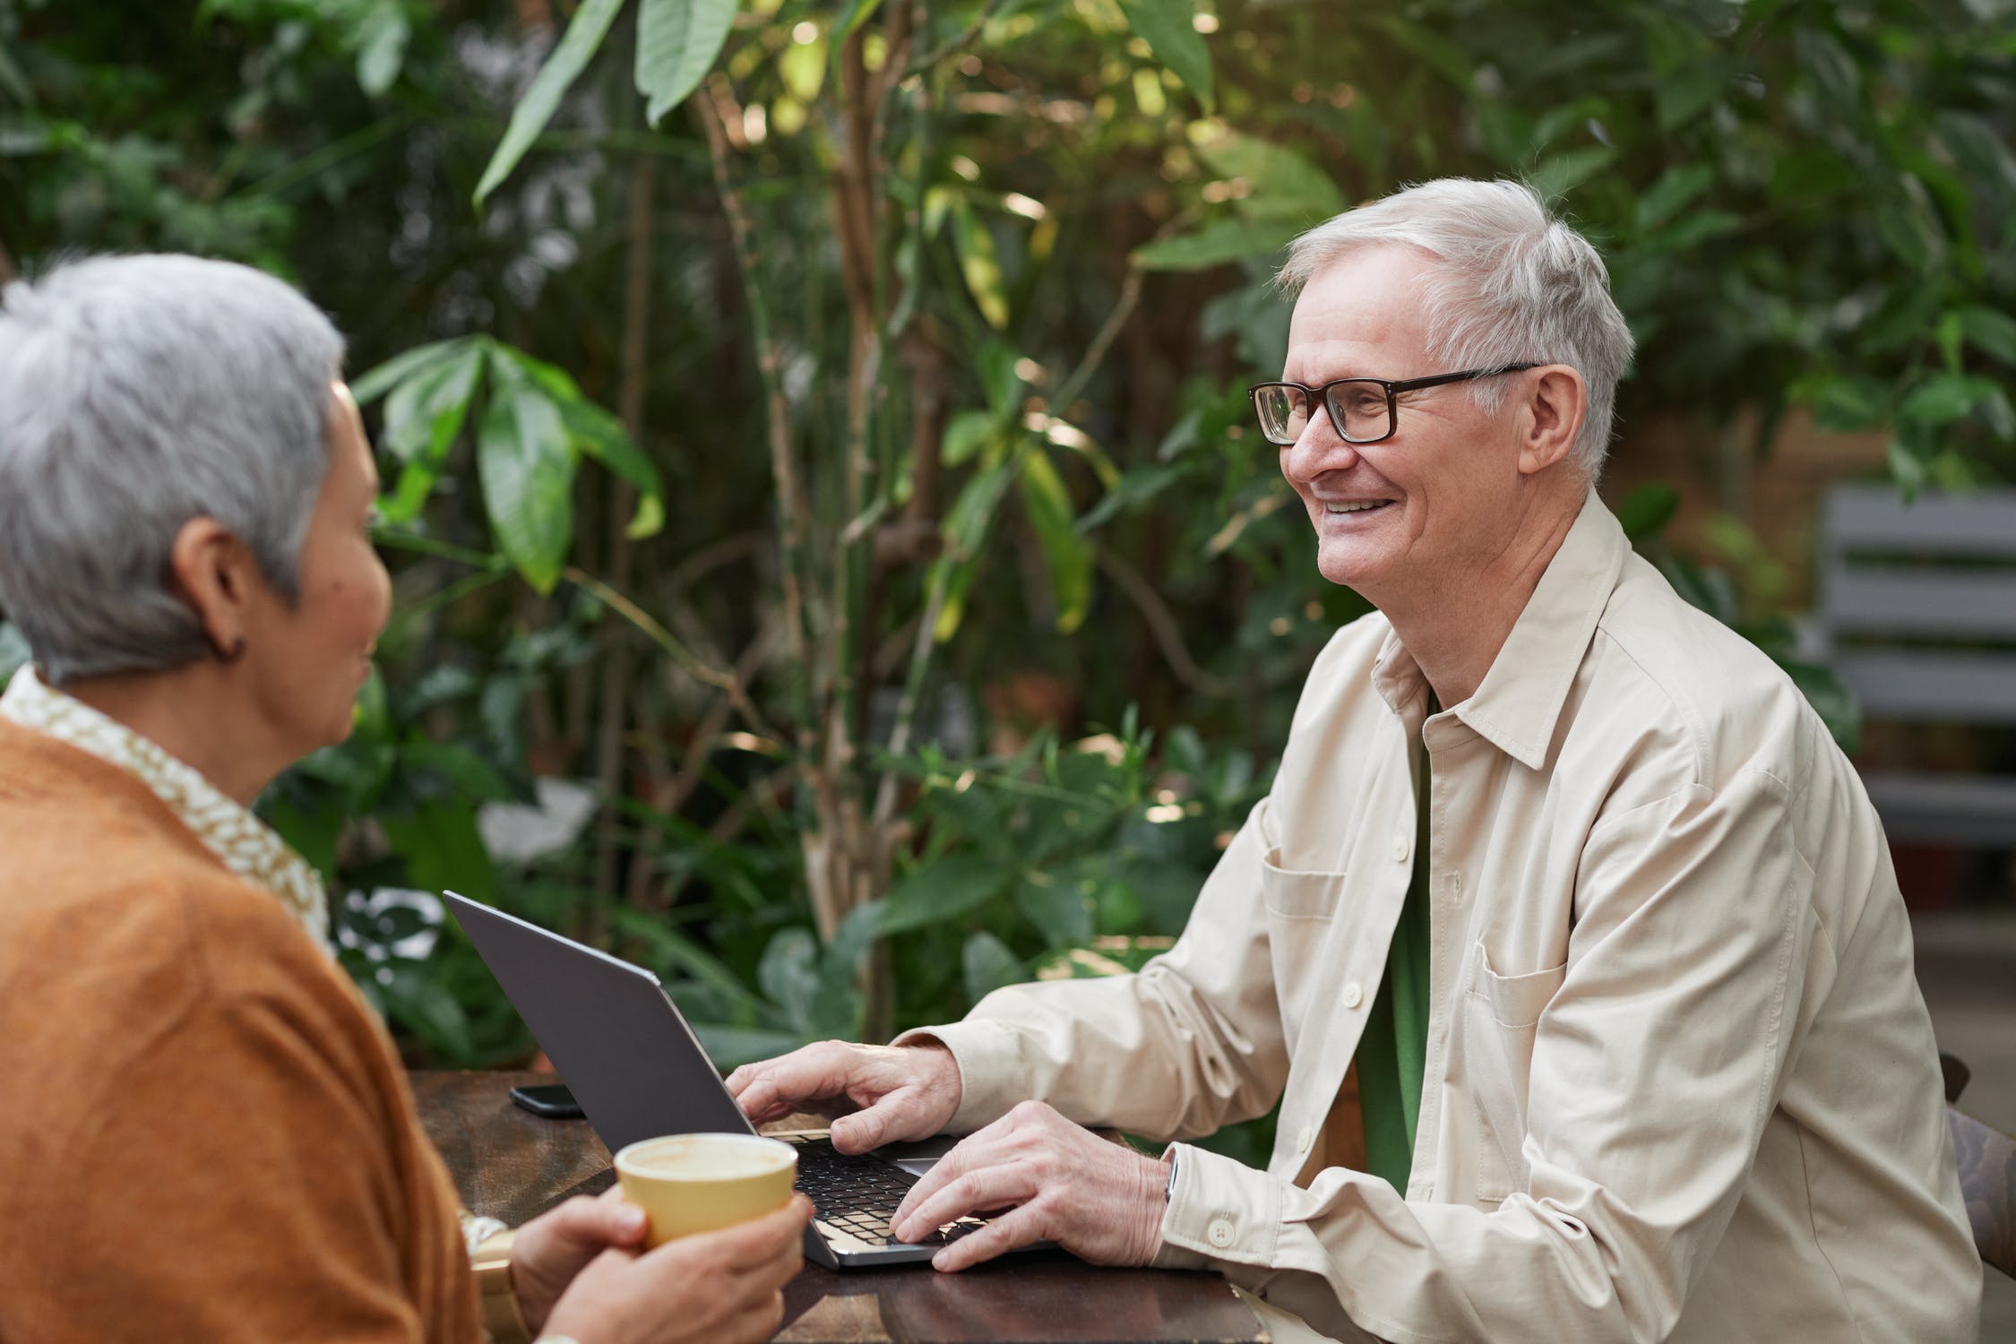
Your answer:
[[[234,262],[101,256],[0,290],[0,604],[52,685],[210,655],[169,572],[192,518],[298,598],[341,363],[314,304]]]

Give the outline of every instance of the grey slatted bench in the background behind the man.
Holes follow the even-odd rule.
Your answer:
[[[2016,727],[2016,490],[1835,486],[1820,540],[1818,653],[1863,715]],[[1893,840],[2016,848],[2016,776],[1875,770]]]

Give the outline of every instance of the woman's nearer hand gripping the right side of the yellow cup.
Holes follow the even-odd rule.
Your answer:
[[[760,1344],[784,1322],[782,1290],[804,1263],[810,1217],[810,1201],[794,1195],[776,1213],[643,1255],[603,1251],[542,1330],[581,1344]]]

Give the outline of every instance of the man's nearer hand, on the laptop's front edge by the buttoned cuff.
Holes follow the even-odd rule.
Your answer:
[[[1012,1209],[937,1251],[954,1271],[1030,1241],[1056,1241],[1095,1265],[1145,1265],[1161,1245],[1169,1169],[1107,1143],[1042,1102],[1022,1102],[968,1136],[909,1189],[893,1231],[921,1241],[935,1227]]]

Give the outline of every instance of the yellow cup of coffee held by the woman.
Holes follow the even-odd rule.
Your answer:
[[[623,1199],[651,1219],[645,1245],[732,1227],[790,1201],[798,1151],[756,1134],[665,1134],[615,1159]]]

